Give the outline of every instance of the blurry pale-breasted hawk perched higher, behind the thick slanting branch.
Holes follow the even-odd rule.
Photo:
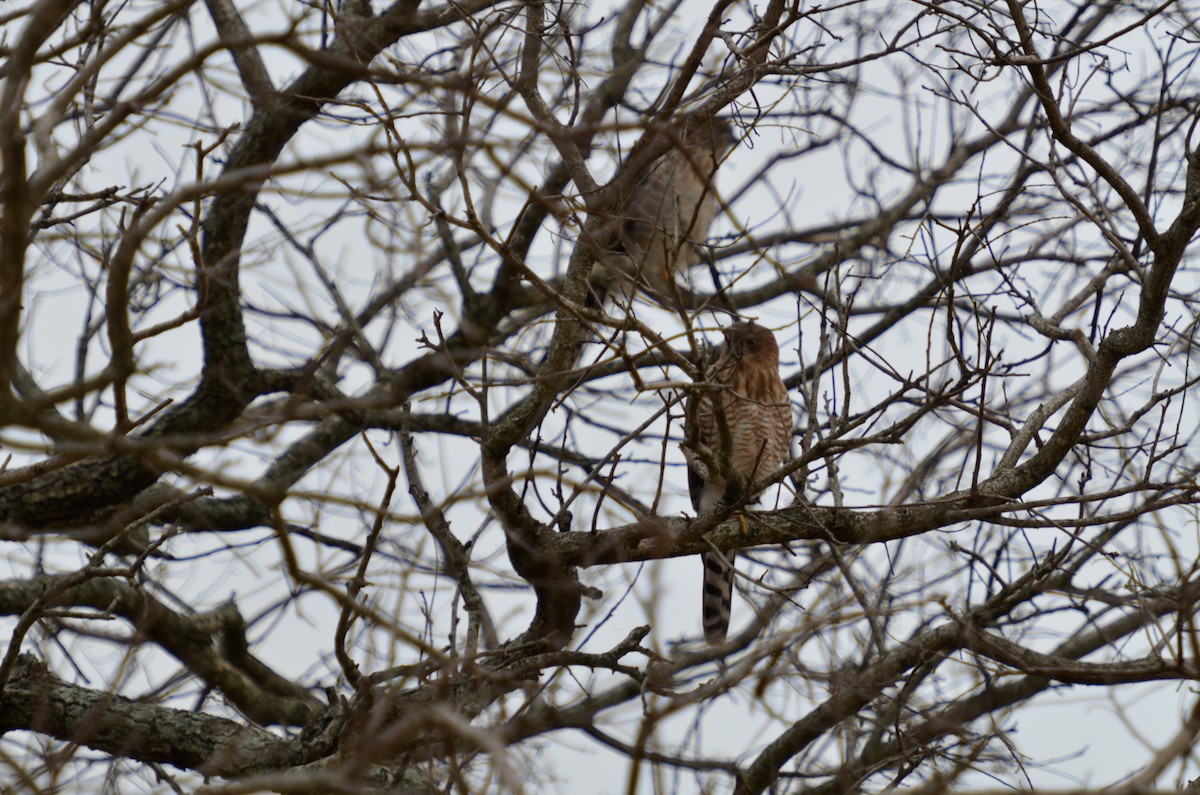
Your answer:
[[[616,281],[626,298],[648,288],[660,303],[671,299],[676,275],[703,261],[701,246],[720,211],[713,177],[737,141],[727,121],[694,122],[622,197],[607,250],[629,261],[601,257],[594,281],[602,292]]]

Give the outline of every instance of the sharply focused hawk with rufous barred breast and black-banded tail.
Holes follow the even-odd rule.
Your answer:
[[[731,323],[721,333],[725,345],[704,367],[704,382],[689,396],[684,419],[688,490],[697,515],[712,510],[731,485],[746,488],[791,458],[792,408],[779,376],[775,335],[752,321]],[[748,502],[761,496],[749,495]],[[720,646],[730,629],[734,552],[702,552],[701,558],[704,640]]]

